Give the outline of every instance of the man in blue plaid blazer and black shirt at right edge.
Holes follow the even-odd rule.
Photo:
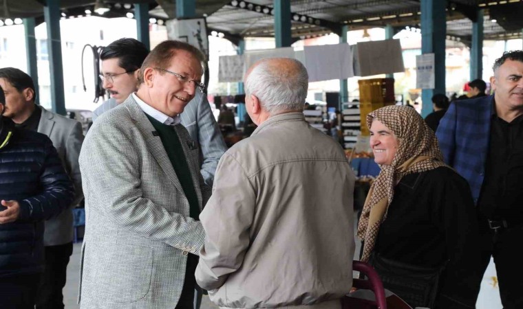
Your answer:
[[[445,161],[469,181],[482,240],[483,273],[494,258],[505,309],[523,308],[523,50],[493,65],[493,95],[456,101],[436,135]]]

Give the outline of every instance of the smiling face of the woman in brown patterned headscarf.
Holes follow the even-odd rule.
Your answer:
[[[370,126],[370,148],[372,148],[374,153],[374,161],[382,165],[391,165],[398,146],[398,139],[392,133],[392,130],[378,121],[378,119],[372,120],[372,125]]]

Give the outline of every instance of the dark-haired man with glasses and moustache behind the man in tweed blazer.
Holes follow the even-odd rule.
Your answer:
[[[136,91],[138,69],[147,54],[147,47],[134,38],[120,38],[103,48],[100,53],[100,78],[111,98],[93,111],[93,122]],[[206,94],[197,92],[185,107],[180,119],[193,141],[200,144],[200,172],[205,183],[212,187],[216,166],[227,146]]]

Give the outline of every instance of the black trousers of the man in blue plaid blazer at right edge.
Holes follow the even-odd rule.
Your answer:
[[[493,256],[495,271],[498,273],[501,303],[504,309],[523,308],[523,263],[520,244],[523,239],[523,225],[513,225],[494,231],[487,220],[480,220],[482,236],[481,273],[489,266]]]

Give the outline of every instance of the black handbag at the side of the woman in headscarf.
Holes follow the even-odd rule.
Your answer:
[[[378,254],[372,254],[369,262],[380,276],[383,287],[401,297],[412,308],[434,308],[445,265],[416,266],[389,260]]]

